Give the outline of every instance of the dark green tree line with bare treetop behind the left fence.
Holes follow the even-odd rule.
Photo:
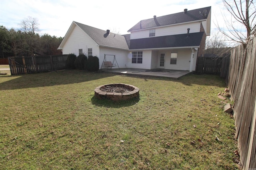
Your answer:
[[[61,55],[57,50],[63,37],[39,35],[38,21],[28,17],[21,21],[21,28],[7,29],[0,25],[0,58],[32,55]]]

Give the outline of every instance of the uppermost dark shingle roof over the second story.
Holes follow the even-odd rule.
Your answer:
[[[206,20],[210,10],[211,10],[211,7],[209,6],[205,8],[199,8],[196,10],[188,10],[187,12],[179,12],[176,14],[170,14],[166,16],[150,18],[147,20],[141,20],[132,28],[130,28],[128,32],[139,30],[139,29],[148,29],[148,28],[184,23],[184,22]]]

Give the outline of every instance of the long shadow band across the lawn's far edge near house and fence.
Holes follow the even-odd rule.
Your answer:
[[[80,82],[88,82],[92,80],[98,80],[101,78],[107,78],[116,76],[116,74],[99,72],[87,72],[80,70],[64,70],[60,72],[46,72],[38,74],[25,74],[17,76],[0,76],[0,90],[15,90],[24,88],[37,88],[45,86],[56,86],[63,84],[76,84]],[[120,75],[122,77],[139,78],[141,81],[148,80],[164,80],[172,82],[180,82],[186,86],[192,86],[193,84],[204,86],[218,86],[226,87],[224,81],[220,81],[221,78],[217,75],[195,75],[188,74],[180,79],[166,78],[166,77],[147,77],[147,76],[131,76]],[[138,80],[140,81],[140,80]]]

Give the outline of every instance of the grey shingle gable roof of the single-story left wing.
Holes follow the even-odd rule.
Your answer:
[[[84,25],[82,23],[78,23],[73,21],[66,33],[64,39],[60,43],[58,49],[62,49],[64,44],[66,43],[68,37],[70,36],[72,30],[75,26],[78,26],[82,31],[88,34],[98,45],[106,46],[106,47],[113,47],[118,49],[126,49],[128,50],[128,45],[126,43],[126,39],[122,35],[110,33],[107,34],[105,30],[98,29],[95,27],[91,27],[89,25]]]

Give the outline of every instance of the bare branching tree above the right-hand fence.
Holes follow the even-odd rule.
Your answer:
[[[222,2],[231,14],[231,19],[223,14],[227,31],[217,23],[219,31],[231,41],[247,44],[256,34],[256,8],[253,0],[222,0]],[[239,23],[241,27],[235,23]]]

